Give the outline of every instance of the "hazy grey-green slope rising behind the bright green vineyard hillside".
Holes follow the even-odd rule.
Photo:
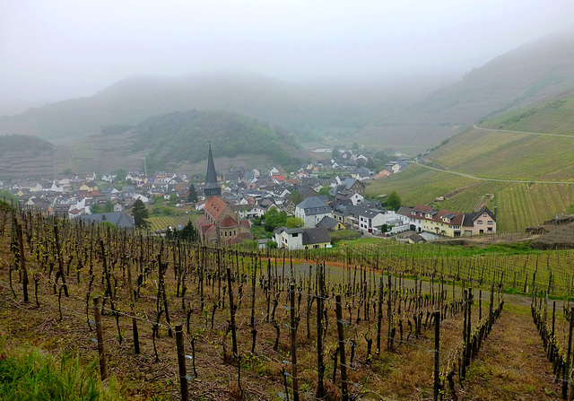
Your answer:
[[[574,36],[547,38],[496,57],[400,113],[357,133],[355,139],[431,147],[457,130],[505,110],[563,96],[574,88]],[[383,139],[385,140],[385,139]]]

